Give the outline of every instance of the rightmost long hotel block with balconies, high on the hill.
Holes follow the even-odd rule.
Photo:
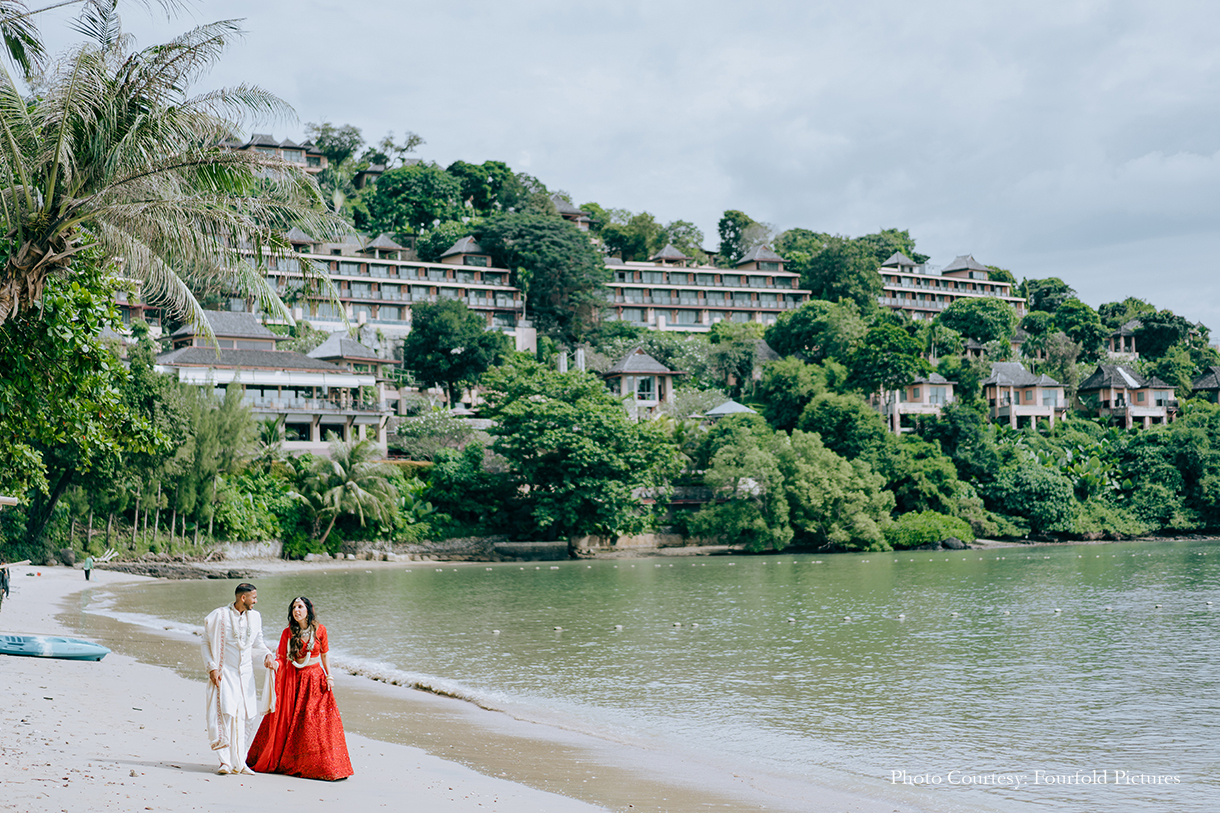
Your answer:
[[[974,256],[964,254],[939,271],[920,265],[895,251],[880,269],[882,292],[877,302],[911,319],[935,319],[958,299],[993,297],[1013,305],[1025,316],[1025,299],[1013,292],[1013,283],[993,280],[994,273]]]

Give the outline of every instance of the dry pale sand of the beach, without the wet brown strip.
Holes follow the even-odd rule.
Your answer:
[[[27,574],[41,573],[41,576]],[[93,585],[139,576],[94,570]],[[0,630],[68,635],[55,615],[87,586],[78,570],[13,568]],[[414,809],[593,813],[600,808],[483,776],[420,748],[348,734],[355,776],[218,776],[203,734],[201,684],[113,652],[100,663],[0,658],[0,809]],[[355,679],[353,679],[355,680]]]

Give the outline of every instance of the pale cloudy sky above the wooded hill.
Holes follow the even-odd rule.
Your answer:
[[[122,7],[122,6],[121,6]],[[142,44],[244,17],[209,84],[299,122],[425,137],[578,203],[780,228],[910,228],[1220,328],[1220,4],[1055,0],[196,0]],[[48,21],[50,22],[50,21]],[[51,33],[50,31],[48,33]],[[59,42],[67,42],[66,38]]]

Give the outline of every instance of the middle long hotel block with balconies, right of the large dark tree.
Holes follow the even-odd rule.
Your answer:
[[[606,260],[606,319],[660,331],[706,332],[722,320],[771,325],[786,310],[809,302],[800,275],[784,270],[784,259],[761,245],[733,269],[693,264],[666,245],[648,262]]]

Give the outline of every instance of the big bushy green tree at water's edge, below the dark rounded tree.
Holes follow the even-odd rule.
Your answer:
[[[493,448],[543,538],[615,536],[643,529],[634,496],[676,474],[673,447],[659,427],[633,424],[589,372],[560,374],[517,358],[484,378]]]

